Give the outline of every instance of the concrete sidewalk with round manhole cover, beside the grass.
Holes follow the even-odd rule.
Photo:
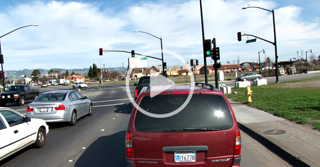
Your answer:
[[[228,99],[242,131],[257,137],[298,166],[320,167],[320,132]],[[283,130],[284,134],[265,134]],[[278,131],[271,131],[278,132]],[[267,133],[267,132],[266,132]]]

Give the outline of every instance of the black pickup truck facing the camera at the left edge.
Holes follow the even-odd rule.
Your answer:
[[[0,94],[0,107],[7,103],[23,106],[26,100],[35,100],[39,94],[39,89],[31,89],[29,85],[13,85]]]

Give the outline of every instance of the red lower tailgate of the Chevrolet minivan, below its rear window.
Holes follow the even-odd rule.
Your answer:
[[[159,166],[165,164],[230,167],[233,161],[234,139],[235,134],[230,130],[188,133],[138,132],[133,136],[135,162],[137,167],[150,166],[149,163],[157,163]],[[189,152],[185,154],[187,157],[183,157],[183,152]],[[182,161],[175,162],[175,158],[182,158]]]

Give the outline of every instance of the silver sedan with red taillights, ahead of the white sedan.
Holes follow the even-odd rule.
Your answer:
[[[49,122],[69,122],[76,125],[76,121],[92,115],[92,102],[74,90],[58,90],[44,92],[27,108],[27,117],[44,119]]]

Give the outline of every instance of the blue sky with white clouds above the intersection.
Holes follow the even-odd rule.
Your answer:
[[[306,51],[320,55],[319,0],[202,0],[205,39],[216,39],[221,63],[257,62],[270,57],[275,61],[275,47],[251,34],[274,42],[272,13],[274,10],[278,62],[306,57]],[[39,26],[19,27],[39,24]],[[0,0],[0,38],[4,70],[124,67],[130,53],[104,50],[135,50],[143,54],[161,49],[177,53],[186,61],[204,62],[199,0]],[[298,51],[298,54],[297,54]],[[312,54],[310,51],[309,55]],[[161,53],[149,56],[161,58]],[[99,59],[99,60],[93,60]],[[164,54],[167,65],[184,64]],[[207,57],[207,63],[211,57]],[[148,58],[149,66],[161,61]]]

